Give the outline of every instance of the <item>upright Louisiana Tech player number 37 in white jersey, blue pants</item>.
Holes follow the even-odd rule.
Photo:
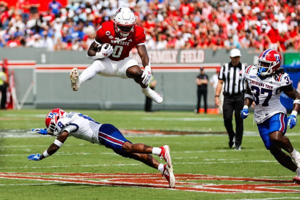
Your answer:
[[[280,68],[280,64],[280,53],[274,49],[266,49],[259,55],[257,64],[246,68],[244,74],[247,89],[240,115],[241,118],[246,118],[248,107],[255,102],[254,120],[264,146],[281,165],[297,174],[293,181],[300,184],[300,153],[284,135],[287,125],[293,128],[296,124],[300,93],[292,87],[288,74]],[[293,110],[288,117],[279,100],[281,91],[294,99]]]

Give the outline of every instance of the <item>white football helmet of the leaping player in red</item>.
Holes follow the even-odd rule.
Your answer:
[[[120,7],[113,15],[114,31],[121,37],[133,33],[135,22],[135,15],[129,7]]]

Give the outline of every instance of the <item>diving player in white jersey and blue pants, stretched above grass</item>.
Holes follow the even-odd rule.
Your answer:
[[[67,113],[60,108],[52,109],[46,115],[45,124],[47,128],[35,128],[32,131],[57,137],[42,154],[30,154],[27,157],[28,160],[41,160],[52,155],[61,147],[68,136],[74,136],[90,143],[104,145],[123,157],[133,158],[156,168],[167,179],[170,187],[175,186],[168,145],[152,147],[142,143],[133,144],[112,124],[101,124],[87,115],[79,112]],[[159,163],[151,154],[163,158],[167,164]]]

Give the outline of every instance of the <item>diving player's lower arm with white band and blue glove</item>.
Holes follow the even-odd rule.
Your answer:
[[[62,131],[54,140],[54,142],[42,153],[36,153],[36,154],[30,154],[27,156],[28,160],[41,160],[45,157],[48,157],[55,153],[60,146],[62,146],[63,142],[67,139],[68,137],[68,132],[67,131]]]

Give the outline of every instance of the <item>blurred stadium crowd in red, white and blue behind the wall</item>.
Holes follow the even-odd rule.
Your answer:
[[[265,48],[300,50],[299,0],[0,1],[0,47],[84,50],[120,6],[134,10],[149,49]]]

